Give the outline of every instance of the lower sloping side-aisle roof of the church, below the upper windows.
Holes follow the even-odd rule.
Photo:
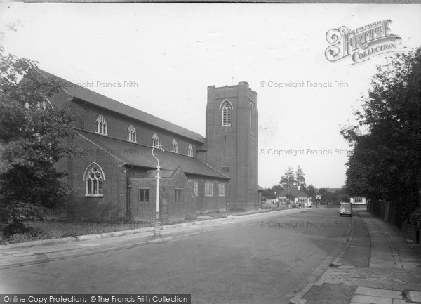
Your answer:
[[[152,156],[152,147],[86,131],[76,132],[99,147],[100,150],[121,161],[123,164],[151,169],[156,168],[156,159]],[[93,151],[92,153],[95,154],[98,153],[98,151]],[[195,157],[158,150],[155,150],[154,154],[159,159],[159,165],[163,170],[163,173],[166,173],[166,171],[172,172],[180,166],[182,171],[187,174],[229,180],[228,176],[216,171],[214,168],[204,164]],[[169,172],[167,173],[169,174]]]

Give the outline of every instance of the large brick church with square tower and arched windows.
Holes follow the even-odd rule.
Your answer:
[[[246,82],[208,87],[206,138],[43,70],[62,89],[46,106],[69,107],[83,157],[60,170],[74,190],[77,218],[152,220],[159,159],[161,218],[184,218],[231,206],[258,206],[258,110]],[[182,117],[180,117],[182,119]]]

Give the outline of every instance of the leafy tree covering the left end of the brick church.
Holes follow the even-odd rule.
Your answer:
[[[65,140],[75,134],[72,115],[48,104],[60,86],[37,77],[34,69],[36,62],[6,55],[0,46],[0,230],[5,236],[28,230],[26,220],[39,218],[70,193],[55,164],[76,154]]]

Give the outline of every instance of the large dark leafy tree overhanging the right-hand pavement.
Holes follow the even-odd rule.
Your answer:
[[[377,66],[358,124],[342,127],[353,149],[346,190],[373,199],[399,199],[408,217],[421,206],[421,48]],[[402,199],[403,198],[403,199]]]

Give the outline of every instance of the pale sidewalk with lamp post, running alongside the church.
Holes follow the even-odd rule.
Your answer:
[[[206,232],[221,230],[233,225],[246,225],[250,218],[262,220],[280,214],[301,212],[302,209],[287,209],[265,213],[246,213],[241,216],[228,216],[214,220],[201,220],[192,223],[161,227],[161,237],[154,237],[154,227],[110,232],[98,235],[83,235],[75,238],[51,239],[39,242],[0,245],[0,269],[34,265],[65,260],[80,256],[129,249],[136,246],[168,242]]]

